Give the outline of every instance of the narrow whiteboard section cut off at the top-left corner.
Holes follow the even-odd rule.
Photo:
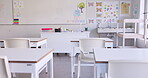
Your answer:
[[[0,24],[12,23],[12,0],[0,0]]]

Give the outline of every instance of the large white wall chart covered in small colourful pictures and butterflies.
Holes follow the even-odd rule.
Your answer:
[[[116,23],[119,17],[119,1],[96,1],[97,23]]]

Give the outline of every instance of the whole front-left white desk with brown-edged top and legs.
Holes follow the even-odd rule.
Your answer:
[[[1,48],[0,55],[8,57],[12,73],[31,73],[39,78],[39,73],[49,62],[50,78],[53,78],[53,49]]]

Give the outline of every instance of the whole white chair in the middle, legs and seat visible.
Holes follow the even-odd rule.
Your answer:
[[[105,48],[105,40],[99,38],[85,38],[80,39],[79,42],[80,55],[78,56],[78,75],[77,78],[80,78],[80,64],[83,62],[94,63],[94,78],[96,78],[96,67],[95,60],[93,55],[94,48]]]

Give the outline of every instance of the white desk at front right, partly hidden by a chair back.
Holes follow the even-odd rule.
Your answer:
[[[100,73],[107,73],[109,60],[148,60],[148,49],[94,49],[97,78]]]

